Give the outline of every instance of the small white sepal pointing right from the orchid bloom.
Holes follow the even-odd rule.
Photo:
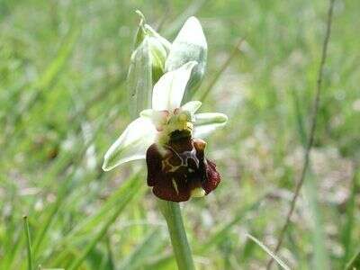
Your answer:
[[[194,138],[205,138],[212,131],[223,127],[228,121],[228,116],[219,112],[206,112],[195,114]]]

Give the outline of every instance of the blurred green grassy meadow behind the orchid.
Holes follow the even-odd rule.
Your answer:
[[[195,14],[208,40],[202,112],[224,112],[208,156],[222,182],[182,204],[199,269],[262,269],[302,169],[329,2],[0,0],[0,269],[175,269],[144,162],[103,173],[130,122],[126,74],[140,9],[173,40]],[[280,257],[342,269],[360,248],[360,1],[336,0],[318,129]],[[276,267],[276,266],[275,266]]]

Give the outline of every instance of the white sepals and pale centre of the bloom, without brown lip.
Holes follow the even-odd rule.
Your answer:
[[[140,112],[106,152],[103,170],[143,159],[153,144],[166,144],[171,132],[188,130],[193,138],[203,139],[228,121],[223,113],[195,113],[202,105],[191,101],[181,105],[186,85],[197,62],[190,61],[169,71],[157,81],[152,93],[152,109]]]

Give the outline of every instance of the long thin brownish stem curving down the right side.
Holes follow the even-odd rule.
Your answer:
[[[330,39],[330,32],[331,32],[331,23],[332,23],[332,14],[333,14],[333,9],[334,9],[334,2],[335,0],[329,0],[329,11],[328,11],[328,21],[327,21],[327,29],[326,29],[326,33],[325,33],[325,38],[322,44],[322,49],[321,49],[321,60],[320,60],[320,67],[319,67],[319,73],[318,73],[318,80],[317,80],[317,84],[316,84],[316,93],[315,93],[315,100],[312,106],[312,113],[311,113],[311,128],[310,128],[310,134],[308,137],[308,141],[307,141],[307,145],[305,148],[305,152],[304,152],[304,161],[303,161],[303,166],[302,166],[302,174],[300,175],[300,179],[296,184],[295,187],[295,192],[293,194],[293,200],[290,204],[290,209],[286,215],[286,220],[284,223],[284,227],[283,229],[280,231],[280,235],[278,238],[278,242],[277,245],[275,247],[275,255],[276,253],[279,251],[281,245],[283,244],[283,240],[284,240],[284,236],[285,236],[285,232],[289,227],[290,224],[290,220],[293,216],[293,211],[295,209],[295,204],[296,201],[299,197],[300,191],[302,189],[302,184],[305,180],[305,176],[310,164],[310,152],[311,152],[311,148],[312,145],[314,143],[314,137],[315,137],[315,130],[316,130],[316,126],[317,126],[317,120],[318,120],[318,111],[319,111],[319,104],[320,104],[320,93],[321,93],[321,86],[322,86],[322,77],[323,77],[323,73],[324,73],[324,67],[325,67],[325,62],[326,62],[326,58],[327,58],[327,53],[328,53],[328,45],[329,45],[329,39]],[[274,262],[274,259],[271,258],[266,266],[266,269],[270,269],[272,264]]]

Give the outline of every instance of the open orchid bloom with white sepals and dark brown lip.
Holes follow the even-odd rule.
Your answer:
[[[213,162],[204,157],[204,139],[228,117],[217,112],[195,113],[202,105],[181,105],[193,67],[190,61],[166,72],[154,85],[152,109],[139,113],[106,152],[103,170],[146,158],[148,185],[160,199],[184,202],[210,193],[220,183]]]

